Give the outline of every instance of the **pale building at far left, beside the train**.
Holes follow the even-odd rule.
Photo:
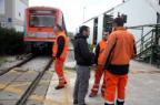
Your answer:
[[[0,0],[0,25],[23,31],[24,10],[29,0]]]

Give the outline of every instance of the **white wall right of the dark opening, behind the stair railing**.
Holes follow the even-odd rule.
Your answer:
[[[154,7],[152,7],[154,6]],[[114,8],[113,15],[118,15],[118,12],[128,15],[126,27],[142,25],[157,23],[157,10],[160,8],[156,0],[129,0],[123,4]],[[148,33],[151,28],[144,29],[144,34]],[[141,38],[141,30],[130,30],[138,41]]]

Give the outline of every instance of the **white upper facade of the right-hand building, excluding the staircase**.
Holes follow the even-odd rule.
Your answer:
[[[87,20],[83,24],[91,28],[90,44],[97,44],[100,41],[102,31],[108,24],[108,19],[116,18],[118,14],[127,14],[126,27],[160,23],[160,0],[123,0],[121,4]],[[140,39],[140,31],[131,31],[138,41]]]

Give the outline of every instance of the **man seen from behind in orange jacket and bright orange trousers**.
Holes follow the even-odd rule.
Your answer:
[[[100,65],[104,66],[104,105],[124,104],[129,62],[136,55],[134,38],[123,28],[123,19],[113,22],[114,31],[109,35]],[[116,96],[116,93],[118,96]]]

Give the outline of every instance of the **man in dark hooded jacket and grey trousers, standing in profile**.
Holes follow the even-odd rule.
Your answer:
[[[86,105],[84,97],[88,92],[90,70],[93,54],[89,51],[87,38],[90,29],[86,25],[80,28],[74,41],[74,57],[77,61],[77,80],[73,92],[73,104]]]

